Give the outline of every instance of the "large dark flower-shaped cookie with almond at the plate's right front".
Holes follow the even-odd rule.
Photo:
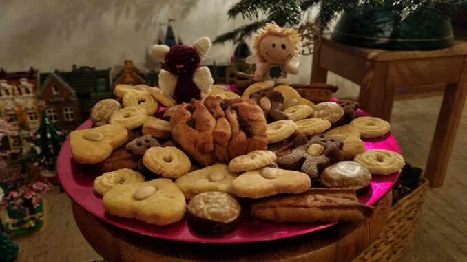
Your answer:
[[[280,168],[298,170],[318,180],[318,175],[326,166],[342,160],[342,142],[329,135],[314,135],[307,144],[298,146],[289,155],[279,157]]]

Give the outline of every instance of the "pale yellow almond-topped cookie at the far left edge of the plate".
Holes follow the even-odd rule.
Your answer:
[[[109,157],[127,138],[127,129],[119,124],[72,131],[70,146],[73,158],[81,164],[96,164]]]

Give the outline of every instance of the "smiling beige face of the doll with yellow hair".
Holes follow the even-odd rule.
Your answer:
[[[268,63],[284,64],[293,58],[295,44],[288,37],[269,35],[262,39],[260,53]]]

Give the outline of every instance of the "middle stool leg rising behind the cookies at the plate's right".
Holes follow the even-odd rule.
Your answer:
[[[367,72],[362,80],[358,103],[371,116],[389,121],[393,108],[395,90],[386,89],[388,63],[368,62]]]

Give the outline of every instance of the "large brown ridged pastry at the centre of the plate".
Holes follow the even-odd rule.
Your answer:
[[[200,166],[267,148],[264,113],[250,99],[193,99],[173,113],[170,127],[174,142]]]

